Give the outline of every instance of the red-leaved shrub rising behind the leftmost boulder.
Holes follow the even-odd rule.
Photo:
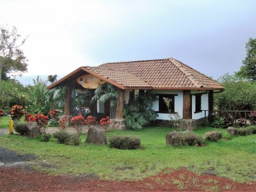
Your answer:
[[[46,126],[48,125],[48,116],[45,116],[44,114],[38,113],[35,114],[35,116],[26,113],[25,115],[25,121],[26,122],[36,122],[38,127],[40,128],[40,134],[45,134],[46,132]]]

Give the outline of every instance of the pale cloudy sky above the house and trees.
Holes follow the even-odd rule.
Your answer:
[[[84,65],[173,57],[217,78],[239,70],[256,38],[256,1],[0,0],[0,25],[28,36],[31,76]]]

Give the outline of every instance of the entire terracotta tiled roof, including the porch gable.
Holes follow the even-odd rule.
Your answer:
[[[99,67],[79,67],[48,88],[68,83],[84,72],[100,77],[121,89],[222,90],[223,86],[173,58],[163,60],[104,63]]]

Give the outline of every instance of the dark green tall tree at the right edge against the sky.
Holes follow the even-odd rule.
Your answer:
[[[249,38],[246,43],[246,58],[236,75],[249,81],[256,81],[256,38]]]

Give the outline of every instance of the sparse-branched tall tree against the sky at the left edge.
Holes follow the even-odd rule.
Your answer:
[[[21,39],[17,29],[0,26],[0,82],[2,70],[6,73],[26,72],[28,64],[26,57],[20,47],[25,43],[26,38]]]

